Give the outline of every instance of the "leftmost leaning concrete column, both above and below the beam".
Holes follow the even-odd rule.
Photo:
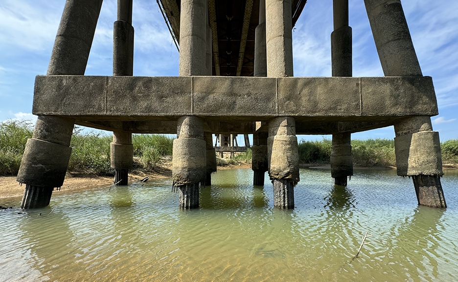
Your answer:
[[[102,0],[67,0],[47,75],[84,75]],[[39,116],[27,140],[17,180],[25,183],[21,207],[49,204],[52,190],[64,183],[74,120]]]

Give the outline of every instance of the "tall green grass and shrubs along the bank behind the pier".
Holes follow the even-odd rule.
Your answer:
[[[0,175],[16,175],[25,143],[32,136],[33,126],[28,121],[0,123]],[[75,127],[69,172],[86,174],[113,174],[110,168],[112,135],[83,133]],[[160,134],[133,134],[135,166],[137,170],[151,170],[161,158],[172,155],[173,137]],[[391,139],[352,140],[353,163],[356,166],[395,166],[394,141]],[[329,164],[331,140],[301,141],[298,144],[302,163]],[[442,162],[458,165],[458,139],[441,142]],[[217,158],[218,165],[250,163],[252,151],[238,153],[232,159]]]

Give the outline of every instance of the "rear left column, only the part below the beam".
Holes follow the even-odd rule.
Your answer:
[[[134,148],[132,146],[132,133],[125,131],[113,132],[113,142],[110,143],[110,161],[112,169],[115,169],[116,185],[127,185],[129,169],[134,160]]]

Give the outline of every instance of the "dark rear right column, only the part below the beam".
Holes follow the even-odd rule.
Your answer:
[[[351,134],[332,134],[331,176],[334,184],[346,186],[347,177],[353,175],[353,157],[351,155]]]

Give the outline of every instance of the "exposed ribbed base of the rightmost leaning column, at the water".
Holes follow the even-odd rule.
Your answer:
[[[446,208],[439,175],[413,175],[413,186],[418,204],[434,208]]]

